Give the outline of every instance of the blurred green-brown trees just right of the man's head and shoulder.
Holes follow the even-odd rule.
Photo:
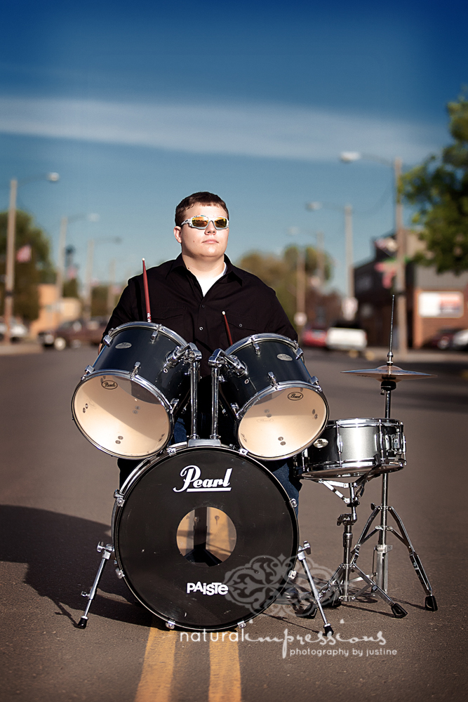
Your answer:
[[[257,275],[264,283],[276,292],[283,309],[291,322],[296,309],[296,274],[297,246],[288,246],[276,256],[274,253],[251,251],[239,261],[239,267]],[[307,276],[319,272],[319,256],[313,246],[305,250],[305,271]],[[332,272],[332,261],[328,253],[323,253],[324,279],[329,280]]]

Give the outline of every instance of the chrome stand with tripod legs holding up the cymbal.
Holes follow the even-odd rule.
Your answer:
[[[390,349],[388,355],[388,361],[387,361],[387,366],[388,366],[388,373],[391,375],[392,373],[392,350]],[[386,378],[382,380],[380,384],[381,388],[381,394],[385,395],[385,418],[389,419],[390,418],[390,408],[392,404],[392,390],[395,390],[396,388],[396,381],[393,379],[387,380]],[[389,475],[388,473],[383,473],[382,474],[382,504],[375,506],[374,504],[370,505],[370,508],[373,510],[371,513],[370,517],[368,518],[363,531],[361,533],[361,536],[359,536],[359,539],[354,546],[353,549],[353,557],[352,557],[352,565],[356,564],[356,561],[359,557],[359,549],[361,548],[361,545],[363,543],[366,543],[368,539],[373,536],[374,534],[379,534],[379,543],[374,546],[374,565],[373,565],[373,576],[375,577],[375,581],[379,588],[382,588],[384,592],[387,592],[388,588],[388,553],[390,550],[392,550],[392,545],[387,544],[387,531],[390,531],[392,534],[396,536],[396,538],[403,543],[406,548],[408,549],[408,553],[410,556],[410,561],[413,564],[413,567],[416,571],[417,577],[420,579],[420,583],[422,585],[422,588],[424,589],[424,592],[426,593],[426,600],[424,602],[424,606],[426,609],[429,609],[429,611],[436,611],[437,610],[437,602],[436,598],[432,594],[432,587],[431,583],[429,583],[429,578],[427,578],[427,575],[424,571],[424,568],[422,567],[422,563],[420,561],[420,557],[417,555],[413,548],[413,544],[410,541],[410,537],[408,536],[408,532],[406,531],[403,522],[401,521],[399,515],[396,514],[396,511],[394,510],[393,507],[391,507],[388,503],[388,486],[389,486]],[[377,515],[380,512],[380,524],[374,527],[372,531],[370,531],[370,534],[368,533],[370,527],[372,526],[374,519],[377,517]],[[388,514],[391,514],[392,517],[394,518],[396,522],[396,526],[398,527],[399,531],[396,531],[393,527],[390,527],[389,524],[387,524],[388,521]]]

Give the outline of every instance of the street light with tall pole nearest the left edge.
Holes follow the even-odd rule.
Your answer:
[[[8,223],[6,228],[6,271],[5,271],[5,303],[4,322],[5,336],[4,343],[11,342],[11,317],[13,316],[13,294],[15,292],[15,239],[16,239],[16,196],[18,187],[33,183],[34,180],[46,179],[49,183],[57,183],[60,176],[58,173],[45,173],[41,176],[31,176],[18,180],[12,178],[10,181],[10,202],[8,204]]]

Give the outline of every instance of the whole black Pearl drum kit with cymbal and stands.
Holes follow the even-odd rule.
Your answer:
[[[256,334],[216,350],[211,368],[211,432],[199,436],[197,387],[201,353],[161,324],[131,322],[103,340],[93,366],[74,391],[72,412],[83,435],[98,449],[140,461],[114,493],[112,543],[98,545],[101,562],[78,623],[85,628],[105,564],[114,559],[136,599],[166,627],[188,630],[243,628],[286,598],[297,616],[319,611],[326,634],[333,630],[323,604],[349,602],[366,590],[382,598],[397,618],[406,611],[387,595],[387,534],[408,548],[426,592],[436,600],[400,517],[388,504],[389,473],[406,465],[401,422],[390,418],[391,392],[399,380],[426,373],[392,362],[368,371],[345,371],[380,380],[385,418],[328,421],[319,380],[305,366],[297,343],[277,334]],[[218,411],[230,413],[236,444],[221,443]],[[190,416],[186,442],[172,443],[182,413]],[[188,421],[188,420],[187,420]],[[295,475],[325,485],[351,510],[340,515],[344,559],[318,590],[300,544],[297,504],[268,470],[290,459]],[[369,479],[382,477],[382,504],[354,548],[356,507]],[[340,489],[349,489],[345,497]],[[380,515],[380,524],[370,531]],[[397,529],[389,526],[392,515]],[[356,564],[361,545],[374,534],[373,574]],[[309,592],[294,587],[299,560]],[[351,579],[352,574],[358,577]],[[355,592],[354,583],[361,582]],[[291,594],[293,593],[293,594]]]

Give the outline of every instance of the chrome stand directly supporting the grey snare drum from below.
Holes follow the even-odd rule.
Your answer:
[[[385,602],[385,604],[388,604],[390,609],[392,609],[394,617],[397,619],[401,619],[404,616],[408,614],[408,612],[401,607],[397,602],[394,602],[391,597],[387,595],[382,588],[375,583],[368,575],[366,575],[361,569],[356,566],[356,562],[354,558],[352,558],[352,554],[354,551],[352,551],[352,541],[353,541],[353,534],[352,534],[352,527],[353,524],[356,524],[357,522],[357,514],[356,514],[356,507],[359,505],[359,497],[364,492],[364,488],[366,486],[366,481],[367,481],[368,476],[364,475],[356,482],[354,483],[340,483],[340,482],[335,482],[335,481],[330,481],[330,480],[319,480],[318,482],[322,483],[326,487],[328,487],[329,490],[337,494],[342,501],[351,508],[351,513],[350,514],[345,514],[345,515],[340,515],[337,519],[337,526],[340,527],[341,524],[343,524],[344,531],[343,531],[343,561],[342,563],[337,567],[335,570],[335,573],[333,573],[333,576],[331,576],[330,580],[326,585],[323,586],[320,590],[320,597],[323,600],[324,596],[328,592],[339,592],[340,595],[340,601],[341,602],[352,602],[353,600],[356,600],[356,597],[359,597],[360,595],[363,595],[366,590],[370,589],[370,592],[373,592],[375,595],[381,598]],[[337,487],[347,487],[349,489],[349,497],[345,497],[342,495],[336,488]],[[359,592],[349,592],[349,583],[350,581],[350,576],[352,573],[356,573],[358,575],[358,578],[356,580],[363,580],[366,585],[364,585]]]

